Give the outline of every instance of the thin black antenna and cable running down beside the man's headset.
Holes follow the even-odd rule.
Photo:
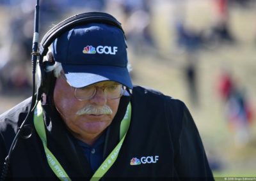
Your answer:
[[[34,18],[34,34],[33,34],[33,45],[32,45],[32,53],[31,53],[31,64],[32,64],[32,74],[33,74],[33,90],[32,90],[32,100],[31,100],[31,106],[29,108],[29,112],[20,125],[17,134],[15,135],[15,138],[12,141],[12,145],[10,147],[10,150],[8,152],[8,156],[6,156],[4,161],[3,170],[1,171],[1,177],[0,180],[4,181],[6,180],[9,166],[10,166],[10,159],[12,156],[13,149],[15,148],[15,145],[17,143],[17,140],[20,138],[20,133],[22,132],[22,129],[25,127],[24,125],[28,121],[29,115],[32,113],[32,110],[36,104],[36,96],[35,96],[35,73],[36,73],[36,61],[38,59],[38,56],[40,55],[38,53],[38,34],[39,34],[39,0],[36,1],[35,6],[35,18]],[[28,136],[29,138],[30,136]]]

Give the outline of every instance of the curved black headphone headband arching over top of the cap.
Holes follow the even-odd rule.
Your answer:
[[[71,29],[72,27],[75,27],[77,25],[82,24],[88,24],[90,22],[100,22],[104,24],[114,25],[122,30],[124,33],[124,30],[122,29],[122,26],[118,20],[116,20],[115,17],[112,15],[109,15],[108,13],[102,13],[102,12],[90,12],[90,13],[81,13],[78,15],[74,15],[72,17],[69,17],[63,21],[61,21],[59,24],[55,25],[50,29],[45,36],[42,38],[42,41],[39,45],[39,52],[42,57],[47,54],[48,47],[51,45],[51,43],[58,38],[62,33],[65,33],[65,31],[68,31],[68,29]]]

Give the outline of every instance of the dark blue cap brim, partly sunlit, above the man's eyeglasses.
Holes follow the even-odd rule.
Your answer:
[[[127,68],[117,66],[75,66],[62,64],[67,82],[72,87],[85,87],[102,81],[114,81],[132,89],[131,77]]]

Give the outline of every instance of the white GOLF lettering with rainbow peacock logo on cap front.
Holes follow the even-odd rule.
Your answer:
[[[87,45],[83,49],[84,54],[111,54],[115,55],[117,52],[117,47],[108,47],[99,45],[96,49],[92,45]]]

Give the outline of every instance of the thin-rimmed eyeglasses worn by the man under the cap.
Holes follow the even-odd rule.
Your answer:
[[[63,73],[61,73],[61,76],[67,81],[67,78],[65,75],[63,75]],[[72,88],[74,89],[74,96],[79,101],[92,99],[97,93],[98,89],[102,89],[102,91],[104,92],[104,96],[107,99],[118,99],[124,95],[124,92],[126,90],[126,87],[120,83],[112,83],[111,85],[106,85],[102,87],[90,85],[82,88],[76,88],[76,87],[72,87]]]

